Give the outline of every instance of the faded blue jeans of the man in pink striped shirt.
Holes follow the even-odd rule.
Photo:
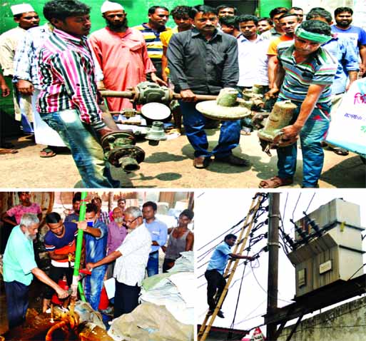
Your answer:
[[[103,148],[91,126],[80,121],[78,111],[63,110],[42,115],[41,118],[59,133],[70,148],[73,161],[86,188],[118,188],[120,183],[113,180],[108,162],[104,159]]]

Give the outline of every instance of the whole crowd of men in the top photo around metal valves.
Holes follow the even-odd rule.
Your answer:
[[[258,19],[238,16],[228,5],[177,6],[171,11],[177,26],[170,29],[164,6],[152,6],[148,22],[130,28],[123,6],[105,1],[101,16],[106,27],[87,39],[91,8],[86,4],[49,1],[44,6],[49,22],[40,27],[33,27],[39,16],[29,6],[13,6],[19,28],[11,39],[19,41],[13,44],[14,70],[9,73],[5,61],[0,61],[4,75],[13,76],[20,97],[36,93],[34,110],[70,148],[83,184],[91,188],[120,185],[103,158],[100,139],[112,130],[103,121],[98,89],[126,90],[146,79],[170,84],[181,94],[173,112],[177,119],[183,115],[185,134],[194,149],[193,166],[207,168],[213,159],[234,166],[250,162],[232,152],[239,144],[240,121],[223,121],[218,145],[208,151],[208,120],[195,108],[196,95],[217,95],[226,87],[242,91],[254,84],[265,86],[266,96],[298,106],[283,135],[293,140],[300,136],[302,185],[317,187],[332,98],[340,98],[366,70],[366,33],[352,26],[348,7],[335,9],[332,25],[331,14],[319,7],[303,21],[298,7],[277,7],[270,18]],[[8,32],[1,35],[0,51],[11,39]],[[131,103],[108,98],[108,106],[120,111]],[[260,187],[293,183],[296,158],[295,142],[279,148],[278,175],[261,181]]]

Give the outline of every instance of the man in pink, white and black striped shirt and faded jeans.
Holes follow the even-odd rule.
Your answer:
[[[87,188],[119,187],[98,141],[110,133],[98,107],[95,66],[88,45],[90,7],[77,0],[51,0],[44,16],[54,31],[39,51],[38,109],[71,150]]]

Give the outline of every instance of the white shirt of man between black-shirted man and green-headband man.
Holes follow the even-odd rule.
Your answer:
[[[258,36],[249,41],[245,36],[238,39],[239,81],[238,86],[268,85],[268,45],[270,41]]]

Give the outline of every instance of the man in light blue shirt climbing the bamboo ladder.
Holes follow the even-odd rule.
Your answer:
[[[213,255],[211,256],[207,270],[205,271],[205,279],[207,280],[208,315],[213,314],[225,288],[226,280],[223,277],[223,273],[228,264],[229,257],[233,259],[254,260],[254,258],[250,256],[231,253],[231,248],[235,245],[236,238],[236,235],[231,233],[225,235],[223,242],[213,251]],[[218,311],[218,317],[225,318],[221,309]]]

